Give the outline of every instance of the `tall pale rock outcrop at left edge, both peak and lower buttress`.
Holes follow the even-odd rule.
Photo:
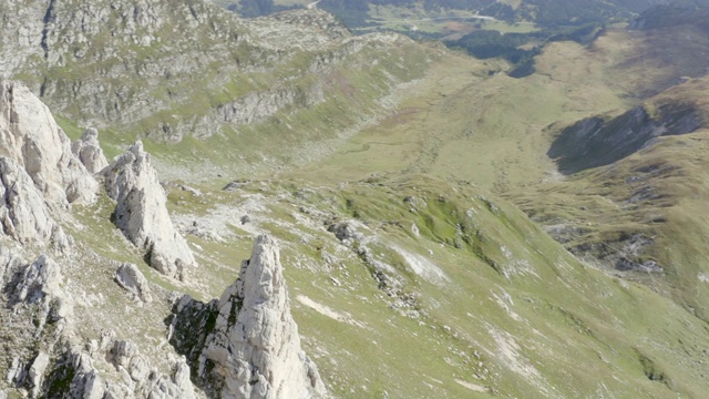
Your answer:
[[[23,84],[0,81],[1,233],[21,244],[70,250],[55,222],[70,205],[91,204],[96,181],[70,149],[47,106]]]

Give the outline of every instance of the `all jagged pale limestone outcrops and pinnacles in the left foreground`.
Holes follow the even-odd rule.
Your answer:
[[[171,277],[184,278],[184,267],[194,265],[194,257],[187,244],[172,227],[165,206],[165,194],[156,172],[151,166],[150,155],[143,151],[142,144],[137,142],[126,153],[117,156],[111,165],[104,167],[105,156],[99,146],[95,130],[88,130],[82,139],[74,143],[72,153],[69,139],[56,127],[41,102],[20,84],[3,84],[3,88],[11,88],[9,96],[12,101],[2,103],[3,108],[0,109],[6,115],[4,120],[0,120],[3,123],[0,125],[0,133],[3,143],[8,143],[3,147],[3,156],[0,156],[0,190],[4,200],[0,208],[3,232],[0,236],[0,293],[4,305],[0,307],[0,318],[3,320],[0,337],[8,345],[8,350],[0,355],[0,364],[8,366],[3,378],[7,385],[2,382],[0,395],[4,395],[1,390],[4,387],[31,398],[191,399],[204,398],[203,390],[220,391],[225,387],[224,383],[195,390],[185,358],[176,356],[169,350],[169,346],[161,345],[150,349],[148,356],[144,354],[146,349],[141,345],[144,342],[136,344],[134,340],[119,338],[119,334],[123,332],[116,334],[113,329],[116,327],[107,321],[112,316],[100,315],[99,308],[101,304],[105,304],[103,293],[88,294],[86,289],[91,288],[82,282],[89,278],[92,282],[91,286],[94,286],[102,284],[94,275],[112,276],[113,287],[102,288],[104,293],[109,295],[109,291],[119,287],[124,289],[129,293],[127,297],[134,299],[126,303],[126,311],[133,313],[135,308],[142,308],[144,313],[152,315],[148,317],[155,317],[158,324],[160,317],[155,314],[160,315],[161,309],[165,309],[161,304],[168,303],[175,294],[153,286],[134,264],[123,263],[114,273],[106,270],[105,264],[116,265],[117,262],[93,253],[83,243],[69,250],[68,246],[73,238],[54,222],[58,217],[63,223],[71,222],[72,232],[85,228],[75,229],[75,209],[70,205],[80,201],[93,202],[96,193],[73,190],[95,190],[96,181],[84,164],[93,172],[104,170],[100,177],[104,180],[107,194],[116,200],[116,225],[131,242],[147,249],[146,258],[151,266]],[[51,140],[55,141],[53,145]],[[18,143],[24,143],[21,146],[24,151],[12,146]],[[59,167],[52,171],[47,163],[54,160],[59,160]],[[34,172],[34,175],[31,172]],[[80,177],[85,178],[85,182],[80,181]],[[62,195],[65,187],[62,184],[71,188],[66,188],[68,193],[75,195]],[[92,203],[86,205],[94,206]],[[56,250],[56,257],[43,253],[50,244],[61,249]],[[277,262],[277,253],[273,255],[277,249],[273,244],[270,239],[265,238],[264,245],[267,248],[264,250],[276,256]],[[38,252],[39,255],[32,255]],[[260,256],[259,254],[255,256]],[[34,256],[35,260],[25,262],[28,256]],[[255,264],[259,265],[258,262]],[[278,295],[274,298],[281,306],[274,308],[278,310],[278,319],[273,321],[281,323],[282,317],[285,335],[271,337],[271,330],[263,330],[260,324],[250,319],[247,325],[240,324],[239,328],[247,328],[245,334],[250,339],[265,346],[258,350],[248,350],[249,355],[256,354],[255,359],[244,359],[254,361],[257,364],[254,370],[267,375],[268,380],[261,381],[257,388],[260,391],[265,389],[267,392],[276,392],[273,393],[276,396],[270,397],[282,397],[280,392],[300,389],[297,386],[305,383],[305,378],[308,378],[309,386],[311,383],[314,389],[322,392],[323,386],[317,369],[299,347],[297,328],[288,310],[289,303],[279,269],[280,264],[268,266],[278,267],[274,270],[268,269],[268,273],[278,276]],[[126,296],[123,294],[115,298]],[[146,308],[145,304],[151,304],[151,307]],[[256,315],[265,315],[254,311]],[[268,310],[265,311],[268,314]],[[228,315],[224,317],[228,319]],[[227,319],[218,324],[219,328],[215,334],[217,330],[227,334],[223,328],[234,327]],[[99,325],[93,326],[96,321]],[[95,335],[100,335],[100,339],[91,338]],[[210,338],[209,342],[212,341],[216,342],[218,339]],[[269,350],[278,350],[284,359],[277,357],[276,360],[271,360],[273,352]],[[158,358],[155,358],[156,354]],[[302,376],[292,368],[295,361],[304,361],[308,367],[301,370]],[[235,365],[222,366],[220,370],[227,375],[222,381],[228,381],[229,389],[249,390],[248,381],[229,379],[234,372],[230,370],[232,367]],[[248,387],[235,386],[243,382]],[[253,397],[258,396],[254,393]]]

